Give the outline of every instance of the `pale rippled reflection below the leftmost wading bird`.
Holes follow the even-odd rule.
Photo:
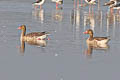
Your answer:
[[[38,20],[41,23],[43,23],[43,21],[44,21],[44,9],[34,9],[32,11],[32,15],[34,16],[34,18],[36,20]]]

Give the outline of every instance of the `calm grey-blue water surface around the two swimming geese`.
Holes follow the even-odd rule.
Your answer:
[[[0,79],[1,80],[113,80],[119,79],[120,15],[110,14],[107,7],[73,9],[73,2],[64,1],[62,10],[46,1],[43,9],[34,10],[33,0],[0,1]],[[99,9],[99,10],[98,10]],[[45,45],[25,43],[20,51],[18,26],[25,24],[27,33],[51,33]],[[87,47],[88,35],[110,36],[105,49]]]

